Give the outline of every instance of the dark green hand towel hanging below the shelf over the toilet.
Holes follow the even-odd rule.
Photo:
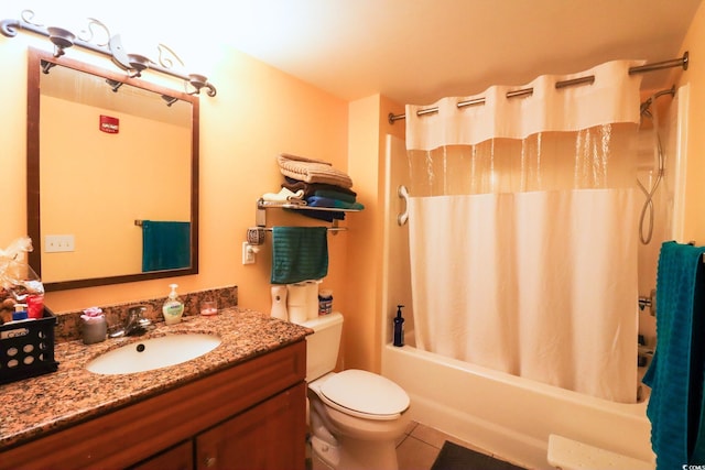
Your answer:
[[[272,229],[272,284],[319,280],[328,274],[328,229],[274,227]]]

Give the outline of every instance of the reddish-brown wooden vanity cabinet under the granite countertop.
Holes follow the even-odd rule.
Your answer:
[[[0,452],[0,469],[305,468],[305,341]]]

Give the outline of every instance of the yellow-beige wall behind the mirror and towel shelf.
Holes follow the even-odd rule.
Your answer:
[[[0,88],[2,249],[26,233],[26,45],[22,34],[0,36],[0,67],[12,70]],[[79,52],[67,55],[80,58]],[[271,238],[256,264],[241,264],[241,242],[247,228],[254,226],[256,201],[261,194],[280,188],[283,179],[275,163],[280,152],[347,168],[348,103],[237,51],[216,48],[213,54],[217,65],[209,75],[218,95],[200,99],[199,274],[48,293],[46,303],[55,311],[166,295],[170,282],[178,283],[181,292],[236,284],[242,307],[270,310]],[[110,66],[109,61],[102,59],[102,65]],[[315,221],[269,210],[268,225],[272,223]],[[324,286],[334,289],[339,309],[347,309],[347,233],[329,237],[330,269]]]

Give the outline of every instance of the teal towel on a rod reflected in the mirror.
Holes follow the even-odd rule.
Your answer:
[[[191,222],[142,221],[142,272],[191,266]]]

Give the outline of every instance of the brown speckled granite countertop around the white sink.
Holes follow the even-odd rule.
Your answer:
[[[149,372],[100,375],[85,368],[97,356],[128,342],[188,332],[216,334],[221,343],[194,360]],[[156,324],[141,337],[89,346],[80,340],[59,342],[54,348],[57,372],[0,385],[0,451],[296,342],[311,332],[262,313],[231,307],[209,317],[187,316],[178,325]]]

